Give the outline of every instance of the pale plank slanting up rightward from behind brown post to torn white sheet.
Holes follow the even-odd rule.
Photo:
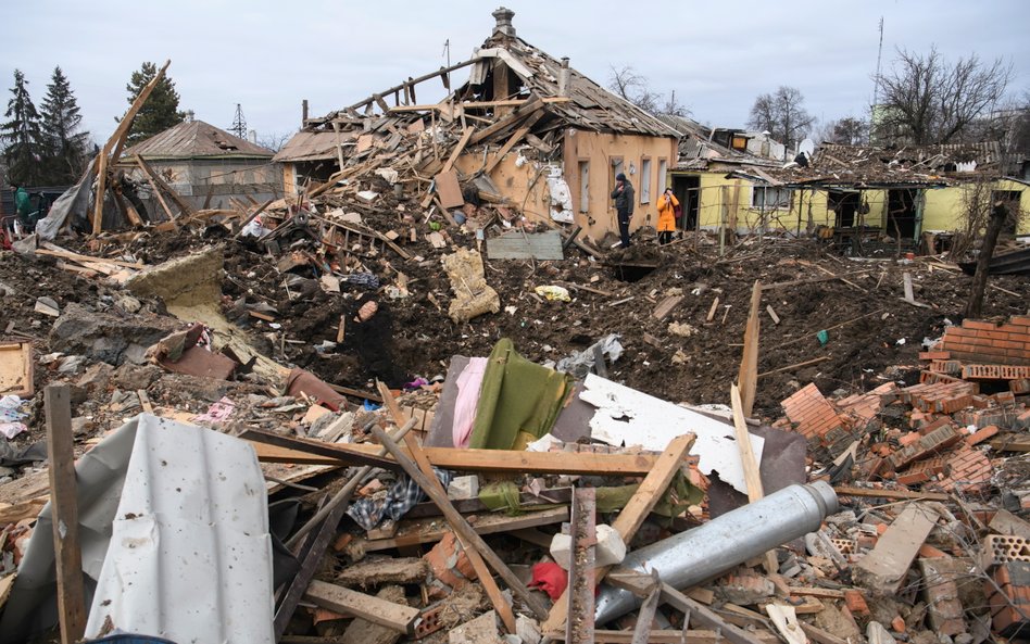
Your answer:
[[[687,457],[690,447],[694,444],[694,434],[687,433],[673,439],[665,449],[665,452],[663,452],[655,462],[654,467],[648,472],[646,478],[644,478],[640,487],[637,488],[637,492],[629,500],[629,503],[626,504],[626,507],[619,512],[618,517],[612,522],[612,528],[623,538],[623,543],[632,541],[633,535],[637,534],[637,530],[640,529],[640,526],[643,525],[644,519],[651,514],[658,498],[665,493],[666,488],[668,488],[673,481],[673,477],[683,465],[683,458]],[[596,581],[601,582],[610,569],[611,566],[599,568],[596,570]],[[551,607],[547,621],[541,624],[541,630],[564,630],[565,622],[568,619],[567,594],[568,589],[554,602],[554,606]]]

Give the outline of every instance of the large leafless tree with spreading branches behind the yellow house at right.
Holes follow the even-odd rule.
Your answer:
[[[977,54],[950,64],[931,47],[926,55],[897,50],[890,72],[878,77],[876,136],[882,142],[949,143],[970,135],[1005,96],[1012,63],[982,63]]]

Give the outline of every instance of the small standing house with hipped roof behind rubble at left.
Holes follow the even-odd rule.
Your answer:
[[[275,152],[203,121],[186,121],[154,135],[126,150],[123,159],[131,162],[137,155],[194,210],[205,204],[231,209],[230,198],[250,203],[282,193],[281,171],[272,161]],[[147,186],[138,168],[133,173]],[[143,201],[151,213],[161,207]]]

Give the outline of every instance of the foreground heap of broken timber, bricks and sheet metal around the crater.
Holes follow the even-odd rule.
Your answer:
[[[38,581],[52,579],[52,560],[50,572],[37,561],[53,546],[32,544],[50,531],[53,510],[40,512],[50,498],[51,472],[41,463],[47,450],[37,443],[43,433],[52,440],[62,431],[55,422],[43,431],[54,413],[46,412],[42,400],[52,391],[48,386],[61,383],[71,402],[65,438],[71,443],[74,437],[81,455],[80,481],[91,480],[98,460],[110,463],[115,441],[153,444],[161,432],[181,432],[176,441],[184,445],[200,440],[190,432],[224,435],[256,454],[261,470],[251,476],[258,479],[229,482],[267,491],[267,502],[240,501],[239,512],[250,507],[254,517],[265,517],[265,527],[256,526],[277,544],[248,551],[254,557],[249,568],[267,565],[273,572],[250,571],[256,577],[244,581],[274,593],[275,609],[254,608],[251,593],[218,584],[210,590],[234,610],[266,620],[259,634],[240,636],[837,644],[942,637],[971,643],[1027,632],[1026,316],[945,324],[940,338],[913,356],[921,366],[884,369],[869,379],[881,383],[868,391],[834,389],[827,397],[815,382],[796,383],[781,405],[763,406],[784,415],[767,418],[769,425],[743,413],[734,422],[731,408],[674,405],[608,380],[629,353],[613,338],[569,351],[561,371],[552,368],[555,363],[518,355],[523,343],[531,345],[525,332],[515,344],[469,338],[461,353],[480,355],[480,362],[453,352],[445,375],[432,381],[422,378],[392,391],[361,381],[352,388],[302,368],[290,358],[318,352],[290,349],[299,345],[273,332],[273,325],[302,332],[301,320],[284,315],[294,301],[279,291],[322,293],[314,301],[331,306],[330,317],[339,319],[344,293],[328,299],[321,286],[310,290],[288,278],[322,282],[304,275],[316,263],[269,272],[268,261],[253,260],[260,255],[247,247],[227,252],[236,242],[156,266],[138,261],[180,254],[173,240],[192,236],[183,231],[165,247],[139,233],[126,238],[128,245],[108,238],[103,255],[88,253],[104,252],[104,238],[74,247],[83,252],[68,250],[77,242],[67,241],[0,258],[4,301],[14,313],[2,346],[4,365],[12,366],[4,369],[3,386],[10,393],[4,427],[13,438],[4,452],[9,480],[0,483],[10,572],[3,578],[10,593],[3,623],[5,631],[13,629],[7,632],[20,633],[14,636],[38,628],[17,616],[39,616],[35,597],[55,592]],[[108,254],[115,249],[114,256]],[[780,258],[776,265],[809,264]],[[247,286],[254,279],[248,273],[256,270],[276,275],[271,289],[262,286],[269,280]],[[214,276],[221,273],[219,283]],[[929,276],[917,275],[929,285]],[[933,275],[954,279],[946,270]],[[409,285],[440,279],[415,273],[412,278]],[[596,290],[611,279],[594,282],[601,285]],[[803,281],[824,287],[832,280]],[[49,294],[29,292],[34,287]],[[381,294],[382,288],[359,292]],[[235,301],[223,298],[223,290]],[[511,301],[510,291],[499,290]],[[916,292],[929,299],[937,291],[924,286]],[[739,296],[746,293],[741,288]],[[730,298],[728,290],[720,294]],[[441,292],[441,317],[451,308],[445,296]],[[707,302],[677,312],[684,296],[640,296],[642,313],[657,320],[671,314],[677,325],[709,315]],[[269,305],[255,306],[262,301]],[[404,317],[407,300],[393,302]],[[921,311],[912,302],[899,306]],[[784,304],[777,308],[792,313]],[[482,324],[501,315],[475,319]],[[357,319],[344,320],[344,331],[354,332]],[[704,337],[705,326],[695,324]],[[307,332],[304,344],[313,345],[338,328]],[[763,359],[782,351],[768,333]],[[779,344],[790,341],[788,336]],[[624,329],[621,342],[636,348],[639,340]],[[366,366],[354,372],[369,374]],[[809,368],[788,369],[788,382]],[[733,435],[749,440],[726,438]],[[213,449],[184,456],[164,446],[159,457],[203,481],[211,466],[202,464],[217,463],[205,451]],[[143,458],[135,455],[138,450],[143,447],[129,449],[126,458]],[[162,484],[160,467],[148,476]],[[217,481],[208,484],[219,489]],[[112,530],[114,536],[131,533],[150,516],[123,513],[130,501],[121,495],[117,509],[103,510],[111,517],[109,538]],[[208,490],[190,507],[204,508],[204,498],[216,497]],[[86,516],[101,512],[80,503]],[[176,520],[186,519],[164,520],[175,529],[185,526]],[[85,632],[198,632],[189,630],[201,628],[196,624],[154,627],[133,617],[133,593],[112,586],[113,572],[104,567],[125,570],[138,554],[109,553],[102,565],[84,566],[99,584],[92,608],[86,606]],[[196,578],[205,568],[186,569],[190,583],[200,583]],[[602,590],[594,597],[598,582]],[[138,583],[151,592],[171,582],[158,574]],[[111,593],[123,603],[105,603]]]

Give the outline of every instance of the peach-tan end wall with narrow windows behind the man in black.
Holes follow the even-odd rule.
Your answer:
[[[636,190],[637,203],[629,224],[630,232],[641,226],[657,225],[657,198],[665,187],[660,176],[661,162],[664,161],[667,168],[671,168],[676,163],[675,139],[568,128],[565,131],[563,153],[565,179],[573,195],[576,223],[583,227],[587,235],[600,240],[606,232],[618,233],[615,202],[611,198],[612,190],[615,189],[615,171],[612,163],[615,159],[623,160],[623,172]],[[651,161],[650,199],[646,203],[641,203],[644,192],[641,174],[645,159]],[[588,164],[586,209],[582,207],[580,190],[580,163]]]

